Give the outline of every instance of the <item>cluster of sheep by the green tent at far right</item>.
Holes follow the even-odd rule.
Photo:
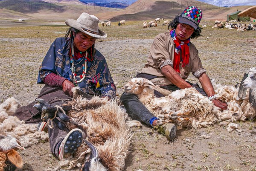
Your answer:
[[[236,29],[237,32],[244,32],[244,30],[254,30],[256,31],[256,25],[253,25],[252,23],[250,24],[242,24],[242,23],[233,23],[237,22],[236,20],[232,20],[229,22],[226,22],[225,24],[221,21],[215,20],[215,25],[212,28],[217,28],[217,29],[224,29],[227,28],[229,30]]]

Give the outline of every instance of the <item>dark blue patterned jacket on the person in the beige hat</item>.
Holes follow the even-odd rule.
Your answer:
[[[44,83],[44,78],[50,73],[67,78],[73,82],[72,71],[70,69],[70,49],[65,38],[57,38],[50,46],[38,74],[38,84]],[[84,58],[73,60],[76,68],[77,80],[82,74]],[[87,72],[84,81],[78,84],[85,93],[97,96],[116,97],[116,86],[111,77],[106,59],[96,50],[92,61],[87,61]]]

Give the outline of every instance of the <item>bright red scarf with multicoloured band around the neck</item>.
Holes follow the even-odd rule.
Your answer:
[[[174,30],[172,29],[170,31],[170,35],[176,45],[175,52],[174,52],[174,60],[172,61],[173,68],[175,69],[175,71],[180,73],[180,64],[182,63],[182,67],[185,67],[185,65],[189,64],[190,38],[181,42],[175,34],[175,29]],[[181,61],[180,61],[180,53],[181,53]]]

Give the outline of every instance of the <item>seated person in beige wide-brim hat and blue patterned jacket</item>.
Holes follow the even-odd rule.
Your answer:
[[[82,13],[77,20],[69,19],[65,23],[70,26],[65,37],[52,43],[40,66],[37,83],[45,86],[38,98],[52,106],[67,104],[73,98],[73,87],[79,87],[87,99],[93,95],[115,98],[116,86],[106,60],[94,46],[97,38],[107,37],[98,27],[99,19]],[[15,116],[26,123],[41,122],[41,111],[33,107],[36,103],[20,107]],[[52,154],[61,160],[64,154],[75,152],[81,145],[82,131],[73,129],[67,133],[67,128],[58,119],[53,121],[53,128],[48,126],[50,148]],[[47,124],[41,122],[38,130],[44,128]],[[77,139],[76,148],[71,148],[68,139]]]

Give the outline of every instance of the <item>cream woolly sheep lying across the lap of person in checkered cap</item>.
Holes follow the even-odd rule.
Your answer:
[[[177,122],[183,127],[207,127],[218,121],[221,110],[195,88],[172,92],[168,97],[156,98],[154,84],[145,78],[133,78],[125,85],[126,93],[133,93],[163,123]],[[216,116],[215,116],[216,115]],[[230,114],[232,115],[232,114]]]

